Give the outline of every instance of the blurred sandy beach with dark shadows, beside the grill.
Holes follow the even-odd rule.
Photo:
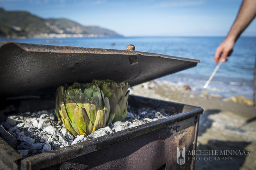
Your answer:
[[[256,110],[207,93],[194,94],[188,87],[174,87],[168,82],[146,82],[131,88],[131,94],[202,107],[197,150],[247,151],[247,155],[226,155],[224,160],[211,160],[205,155],[195,163],[202,169],[256,169]]]

